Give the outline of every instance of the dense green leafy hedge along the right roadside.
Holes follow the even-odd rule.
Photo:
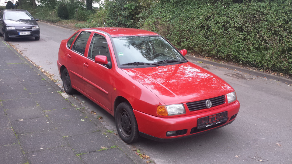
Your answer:
[[[144,29],[179,49],[292,74],[290,0],[160,0]]]

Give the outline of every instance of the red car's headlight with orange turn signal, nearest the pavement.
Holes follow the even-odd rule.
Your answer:
[[[157,114],[161,116],[172,116],[185,113],[186,109],[183,104],[159,105],[157,107]]]

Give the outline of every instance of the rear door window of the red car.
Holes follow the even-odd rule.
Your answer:
[[[91,32],[82,31],[80,33],[80,35],[77,37],[75,43],[73,44],[72,50],[84,55],[85,48],[86,48],[86,43],[88,41],[90,33]]]

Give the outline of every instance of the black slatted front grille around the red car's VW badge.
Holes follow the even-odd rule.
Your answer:
[[[206,100],[210,100],[212,102],[212,107],[224,104],[226,101],[225,95],[206,99]],[[196,110],[200,110],[200,109],[205,109],[205,108],[207,108],[206,100],[189,102],[189,103],[186,103],[186,105],[188,106],[189,111],[196,111]]]

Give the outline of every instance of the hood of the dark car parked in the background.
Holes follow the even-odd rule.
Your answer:
[[[4,22],[6,26],[15,29],[32,29],[32,26],[38,26],[35,20],[5,20]]]

